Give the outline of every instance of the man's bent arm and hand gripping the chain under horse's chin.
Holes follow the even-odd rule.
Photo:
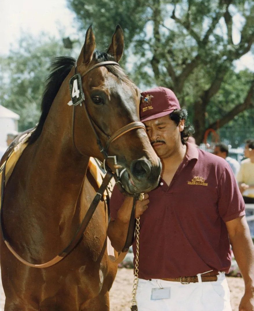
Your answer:
[[[148,203],[148,194],[146,193],[143,201],[136,202],[135,218],[143,214],[147,209]],[[117,212],[117,218],[112,218],[108,224],[108,237],[111,241],[111,245],[117,252],[122,251],[127,238],[132,205],[133,197],[126,197]]]

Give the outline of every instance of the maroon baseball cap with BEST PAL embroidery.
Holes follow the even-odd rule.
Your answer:
[[[155,87],[141,93],[140,120],[142,122],[163,117],[175,109],[181,109],[173,91],[165,87]]]

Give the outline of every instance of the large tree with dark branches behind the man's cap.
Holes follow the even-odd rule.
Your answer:
[[[248,79],[238,79],[239,88],[244,89],[239,100],[226,104],[227,92],[223,92],[237,78],[234,62],[254,50],[252,0],[68,0],[68,3],[80,21],[81,30],[93,24],[101,48],[107,46],[115,25],[121,25],[126,55],[132,55],[130,74],[135,83],[172,89],[181,106],[191,112],[198,144],[208,128],[222,127],[242,111],[253,108],[253,73],[246,71],[243,75]],[[237,17],[241,22],[239,42],[234,37]],[[238,86],[232,89],[233,93],[239,93]],[[215,100],[218,96],[219,102]],[[211,118],[207,122],[211,107],[215,112],[219,109],[220,114],[209,113]]]

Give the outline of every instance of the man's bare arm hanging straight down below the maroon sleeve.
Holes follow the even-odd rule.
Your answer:
[[[232,250],[241,271],[245,293],[239,311],[254,311],[254,245],[245,216],[226,222]]]

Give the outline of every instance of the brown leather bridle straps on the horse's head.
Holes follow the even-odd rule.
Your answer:
[[[97,63],[95,65],[93,65],[92,67],[90,67],[83,75],[82,77],[80,78],[80,80],[86,75],[88,74],[90,71],[92,71],[93,69],[97,68],[97,67],[101,67],[101,66],[107,66],[107,65],[115,65],[115,66],[119,66],[119,64],[117,62],[113,62],[113,61],[106,61],[106,62],[101,62],[101,63]],[[78,73],[78,69],[77,69],[77,62],[75,62],[75,75],[79,75]],[[81,88],[81,91],[83,92],[83,89]],[[70,92],[71,92],[71,87],[70,87]],[[83,92],[83,98],[84,98],[84,92]],[[81,95],[81,96],[82,96]],[[82,98],[82,99],[83,99]],[[91,118],[88,110],[87,110],[87,107],[86,107],[86,104],[84,102],[84,99],[82,101],[79,101],[78,103],[76,104],[73,104],[73,114],[72,114],[72,142],[73,142],[73,145],[75,147],[75,149],[82,154],[81,151],[78,150],[77,146],[75,145],[75,140],[74,140],[74,121],[75,121],[75,107],[80,104],[83,106],[84,110],[85,110],[85,114],[89,120],[89,123],[91,125],[91,128],[93,130],[93,133],[96,137],[96,142],[97,142],[97,145],[98,145],[98,148],[100,150],[100,152],[102,153],[103,155],[103,158],[104,158],[104,161],[103,161],[103,166],[104,166],[104,169],[105,171],[108,170],[108,167],[106,168],[106,162],[109,158],[113,158],[114,160],[114,165],[117,166],[117,157],[116,156],[108,156],[108,148],[109,148],[109,145],[115,141],[116,139],[118,139],[119,137],[121,137],[122,135],[124,135],[125,133],[131,131],[131,130],[134,130],[134,129],[137,129],[137,128],[143,128],[144,130],[146,130],[146,127],[145,125],[142,123],[142,122],[139,122],[139,121],[136,121],[136,122],[132,122],[132,123],[128,123],[127,125],[123,126],[122,128],[120,128],[119,130],[117,130],[111,137],[108,136],[102,129],[99,128],[99,126],[93,121],[93,119]],[[106,146],[103,147],[103,144],[101,142],[101,139],[98,135],[98,132],[100,133],[101,136],[103,136],[105,139],[106,139]],[[118,171],[118,168],[116,168],[116,175],[117,175],[117,178],[119,179],[119,171]]]

